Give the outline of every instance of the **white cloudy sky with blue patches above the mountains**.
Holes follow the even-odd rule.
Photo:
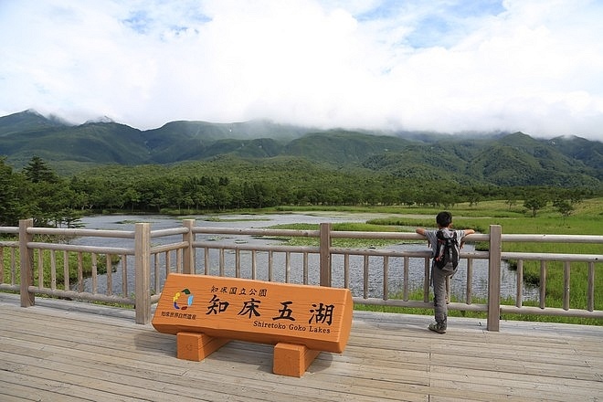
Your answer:
[[[0,0],[0,115],[603,141],[598,0]]]

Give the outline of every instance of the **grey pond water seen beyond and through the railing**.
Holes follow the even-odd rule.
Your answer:
[[[320,224],[323,222],[366,222],[368,219],[375,217],[389,217],[391,215],[386,214],[349,214],[349,213],[313,213],[311,214],[264,214],[264,215],[198,215],[187,218],[196,219],[196,226],[204,227],[234,227],[234,228],[260,228],[260,227],[272,227],[275,225],[283,224],[294,224],[294,223],[308,223],[308,224]],[[81,219],[84,227],[90,229],[108,229],[108,230],[133,230],[136,222],[148,222],[151,224],[152,230],[182,227],[182,220],[175,217],[167,217],[161,215],[102,215],[84,217]],[[408,227],[408,231],[414,231],[414,227]],[[157,244],[164,244],[169,242],[181,241],[181,236],[166,237],[160,239],[153,239],[153,246]],[[278,240],[267,239],[267,238],[254,238],[251,236],[223,236],[223,235],[207,235],[207,236],[196,236],[197,241],[217,241],[223,244],[241,244],[247,245],[276,245],[279,244]],[[73,244],[85,244],[90,246],[101,246],[101,247],[132,247],[132,240],[130,239],[119,239],[119,238],[76,238],[71,241]],[[417,243],[402,243],[391,245],[385,249],[395,250],[425,250],[427,249],[426,244]],[[471,244],[465,245],[465,250],[473,250]],[[214,252],[215,251],[215,252]],[[251,252],[240,251],[239,257],[241,259],[241,267],[249,267]],[[163,257],[160,257],[160,262]],[[212,270],[209,272],[212,275],[218,274],[218,254],[217,250],[212,250],[210,253],[210,266]],[[257,267],[259,280],[268,280],[268,253],[257,252]],[[284,253],[274,253],[273,260],[273,279],[276,281],[282,281],[285,277],[284,268],[286,266]],[[172,263],[174,263],[173,261]],[[128,270],[132,271],[133,257],[128,257]],[[302,283],[302,266],[303,259],[299,253],[291,253],[291,271],[289,280],[292,283]],[[234,276],[235,267],[235,252],[227,252],[225,255],[225,265],[227,276]],[[318,266],[319,259],[316,255],[310,255],[308,259],[309,265],[309,282],[311,284],[318,284]],[[389,276],[388,276],[388,292],[393,294],[402,290],[403,286],[403,259],[390,258],[389,259]],[[164,266],[164,265],[161,265]],[[197,271],[202,270],[198,267],[204,266],[203,253],[196,253],[196,266]],[[343,287],[344,284],[344,257],[335,255],[332,259],[333,266],[333,286]],[[383,293],[383,259],[377,257],[369,258],[369,283],[368,289],[369,297],[382,297]],[[450,287],[451,292],[454,296],[460,300],[465,298],[466,289],[466,260],[461,260],[460,268],[457,274],[452,278]],[[364,282],[364,259],[362,257],[350,258],[350,289],[354,296],[363,295],[363,282]],[[164,275],[162,272],[161,275]],[[250,278],[251,274],[249,271],[242,269],[241,275],[245,278]],[[487,297],[488,287],[488,262],[486,260],[475,259],[473,260],[473,278],[472,288],[473,294],[480,298]],[[113,291],[120,293],[122,291],[122,268],[121,263],[118,264],[117,270],[113,272]],[[164,280],[161,278],[160,280]],[[409,284],[410,289],[422,289],[424,280],[424,261],[422,259],[410,259],[409,262]],[[85,280],[85,291],[91,291],[91,280]],[[99,290],[104,292],[106,286],[106,280],[104,275],[100,275],[99,278]],[[503,272],[501,275],[501,287],[502,297],[511,296],[514,298],[516,292],[516,274],[513,270],[509,270],[506,263],[503,263]],[[128,275],[128,291],[134,291],[134,280],[133,275]],[[537,289],[528,289],[524,287],[524,301],[535,300],[538,296]]]

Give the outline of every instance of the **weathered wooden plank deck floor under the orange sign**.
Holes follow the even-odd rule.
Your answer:
[[[343,354],[302,378],[271,372],[272,347],[231,342],[203,362],[132,311],[0,293],[0,401],[600,401],[603,327],[354,312]]]

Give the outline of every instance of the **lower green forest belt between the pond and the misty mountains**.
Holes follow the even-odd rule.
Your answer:
[[[526,215],[552,203],[563,216],[592,189],[555,186],[462,185],[386,172],[338,169],[304,159],[109,165],[60,176],[33,156],[19,171],[0,159],[0,225],[33,217],[41,227],[77,227],[87,214],[192,214],[271,206],[454,206],[505,200]]]

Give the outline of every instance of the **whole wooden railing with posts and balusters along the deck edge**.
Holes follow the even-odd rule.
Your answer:
[[[415,233],[333,231],[330,223],[321,224],[318,230],[196,227],[195,220],[192,219],[185,220],[183,227],[153,231],[147,223],[135,224],[133,231],[90,230],[33,227],[33,221],[26,219],[20,221],[19,227],[0,227],[1,234],[14,236],[16,240],[0,241],[0,290],[19,291],[21,305],[24,307],[35,303],[36,294],[131,304],[135,306],[136,322],[149,323],[151,305],[159,299],[165,277],[170,272],[178,272],[355,287],[353,294],[356,303],[433,308],[429,301],[430,261],[427,247],[412,251],[403,247],[351,249],[332,246],[333,239],[337,238],[412,242],[425,240]],[[216,240],[217,236],[316,238],[317,245],[229,244]],[[114,238],[122,241],[123,246],[82,246],[58,241],[58,238],[74,237],[90,238],[88,242],[92,244],[93,238]],[[451,310],[487,312],[487,329],[490,331],[499,330],[500,314],[503,312],[603,319],[603,311],[595,308],[596,297],[601,297],[603,291],[596,289],[595,281],[596,270],[598,268],[600,272],[603,255],[502,252],[503,242],[603,245],[603,236],[503,235],[500,226],[492,225],[490,234],[471,235],[467,240],[488,242],[489,251],[461,251],[461,270],[467,271],[464,284],[466,297],[464,302],[450,302]],[[69,259],[75,261],[71,265],[77,266],[75,283],[69,279]],[[119,259],[119,263],[113,264],[115,259]],[[362,269],[354,269],[352,261],[357,259],[362,260]],[[396,297],[392,297],[389,267],[397,259],[403,267],[401,289],[396,292]],[[508,259],[518,261],[514,305],[501,303],[501,267],[502,261]],[[488,261],[487,300],[481,303],[473,302],[473,266],[476,260]],[[526,260],[541,261],[540,304],[537,307],[523,305],[523,265]],[[564,262],[565,289],[561,307],[545,305],[547,261],[552,260]],[[103,275],[99,274],[100,261],[105,261],[104,264],[108,267]],[[408,276],[410,270],[413,270],[411,265],[417,266],[416,263],[411,264],[411,261],[420,261],[423,276],[422,300],[410,300]],[[588,267],[586,302],[580,308],[570,308],[569,304],[569,280],[573,263],[586,263]],[[380,267],[377,275],[379,280],[375,280],[374,272],[371,272],[375,270],[375,264]],[[59,273],[62,273],[63,280],[58,280],[61,276]],[[354,283],[353,286],[351,275],[359,278],[356,281],[360,283]]]

